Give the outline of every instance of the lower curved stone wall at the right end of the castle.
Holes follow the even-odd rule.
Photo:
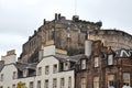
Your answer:
[[[89,33],[90,40],[101,40],[105,46],[112,50],[132,48],[132,35],[119,30],[96,30]]]

